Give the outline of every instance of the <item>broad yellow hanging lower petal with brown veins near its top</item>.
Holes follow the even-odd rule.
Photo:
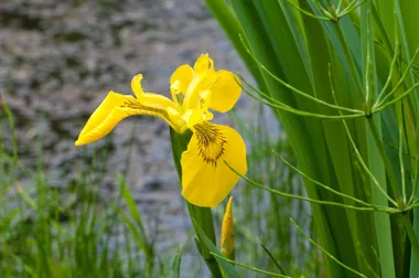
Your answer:
[[[182,153],[182,195],[197,206],[219,204],[247,172],[246,145],[230,127],[202,124],[193,127],[187,150]]]

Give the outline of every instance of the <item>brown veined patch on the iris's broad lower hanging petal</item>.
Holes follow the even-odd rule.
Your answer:
[[[197,137],[197,148],[200,156],[206,163],[211,163],[214,167],[217,165],[217,160],[224,154],[225,151],[225,137],[211,124],[202,124],[194,126]]]

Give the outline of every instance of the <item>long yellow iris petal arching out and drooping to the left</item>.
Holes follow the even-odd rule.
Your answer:
[[[110,92],[87,120],[75,145],[82,146],[99,140],[107,136],[119,121],[131,115],[151,115],[172,124],[165,110],[144,106],[132,96]]]

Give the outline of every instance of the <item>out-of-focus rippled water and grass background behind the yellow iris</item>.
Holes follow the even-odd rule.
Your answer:
[[[163,277],[183,244],[182,277],[208,275],[191,240],[164,121],[130,117],[106,139],[74,146],[107,93],[131,94],[138,73],[146,92],[169,96],[171,73],[208,53],[216,70],[248,77],[203,1],[3,0],[0,53],[0,276]],[[243,96],[234,113],[216,119],[246,138],[255,162],[249,175],[303,194],[302,186],[290,185],[301,185],[300,179],[270,153],[275,142],[292,160],[286,139],[277,146],[279,124],[266,108]],[[251,148],[260,142],[264,147]],[[237,223],[254,216],[238,228],[237,246],[244,242],[253,249],[261,232],[266,238],[272,233],[284,242],[276,256],[298,257],[293,264],[301,265],[312,256],[298,247],[304,242],[290,234],[287,217],[281,226],[279,215],[271,215],[276,227],[269,226],[264,202],[269,195],[248,186],[240,183],[233,192]],[[305,217],[310,229],[307,205],[290,200],[277,205],[282,216]],[[224,204],[216,210],[219,223],[223,210]],[[259,258],[262,266],[273,264],[266,254]]]

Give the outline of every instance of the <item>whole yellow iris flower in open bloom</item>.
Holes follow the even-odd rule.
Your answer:
[[[230,127],[210,124],[213,114],[233,108],[240,96],[236,76],[228,71],[215,71],[207,54],[201,55],[192,68],[182,65],[170,78],[173,100],[144,93],[142,75],[132,78],[136,97],[109,92],[82,130],[76,146],[96,141],[108,135],[123,118],[151,115],[165,120],[176,132],[192,130],[187,150],[182,153],[182,195],[197,206],[214,207],[247,172],[246,146]]]

